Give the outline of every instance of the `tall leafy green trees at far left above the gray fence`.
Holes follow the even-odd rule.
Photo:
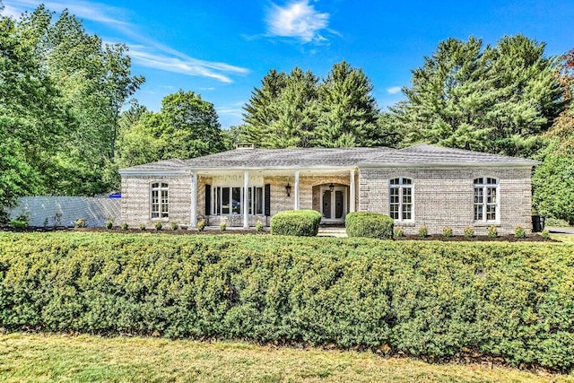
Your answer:
[[[43,5],[0,20],[0,205],[20,195],[109,190],[118,118],[143,83],[123,44],[104,44]]]

